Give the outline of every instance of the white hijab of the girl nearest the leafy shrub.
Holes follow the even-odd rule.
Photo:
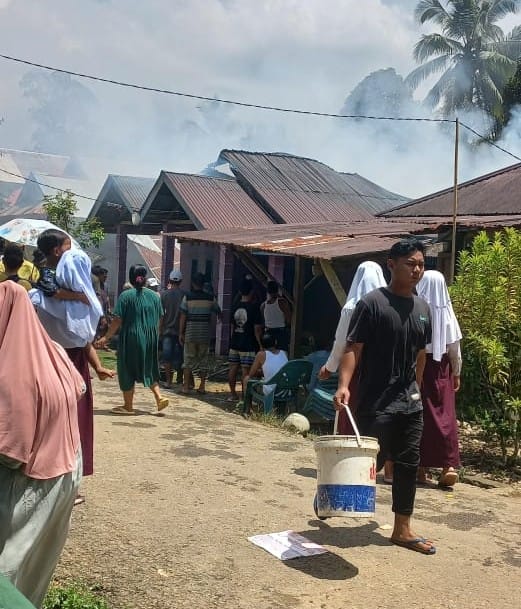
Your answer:
[[[416,291],[431,310],[432,343],[427,345],[427,351],[432,353],[434,360],[441,362],[441,358],[447,353],[447,345],[452,345],[462,338],[445,277],[439,271],[425,271]]]

